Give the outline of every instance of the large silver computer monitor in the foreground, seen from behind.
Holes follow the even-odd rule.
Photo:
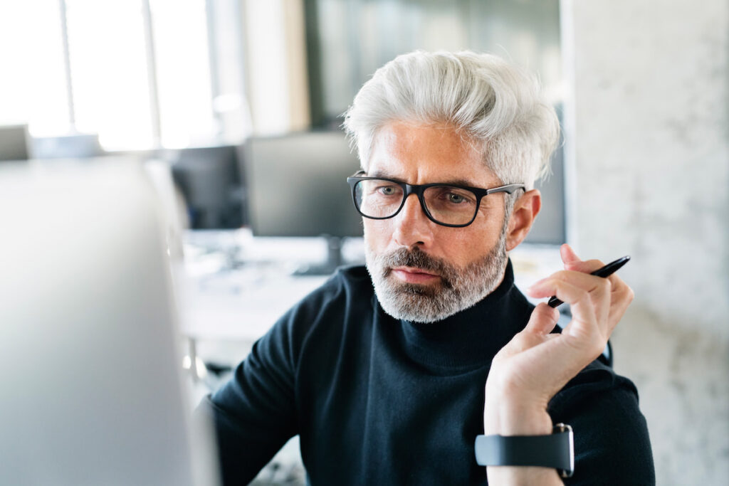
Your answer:
[[[26,165],[0,166],[0,484],[217,484],[151,185]]]

